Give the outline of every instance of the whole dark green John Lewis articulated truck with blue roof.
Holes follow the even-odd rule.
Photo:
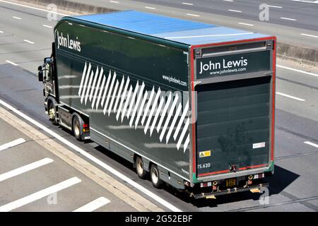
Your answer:
[[[269,186],[276,37],[139,11],[66,16],[38,70],[52,123],[156,188],[216,198]]]

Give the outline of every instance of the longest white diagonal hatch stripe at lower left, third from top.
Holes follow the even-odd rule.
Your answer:
[[[78,179],[77,177],[72,177],[71,179],[67,179],[66,181],[61,182],[59,184],[49,186],[47,189],[37,191],[34,194],[30,194],[29,196],[25,196],[24,198],[20,198],[16,201],[8,203],[4,206],[0,206],[0,212],[8,212],[8,211],[14,210],[14,209],[19,208],[21,206],[24,206],[28,203],[32,203],[34,201],[37,201],[40,198],[44,198],[45,196],[49,196],[52,193],[66,189],[69,186],[72,186],[74,184],[78,184],[79,182],[81,182],[81,179]]]

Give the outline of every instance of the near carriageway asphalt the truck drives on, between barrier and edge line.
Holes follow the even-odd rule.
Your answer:
[[[0,7],[3,4],[0,4]],[[278,68],[276,91],[276,167],[271,183],[270,204],[259,204],[259,194],[239,193],[216,200],[192,200],[170,188],[154,189],[136,176],[131,165],[95,143],[79,143],[71,134],[50,124],[43,108],[42,84],[36,69],[50,54],[52,28],[46,13],[18,6],[3,9],[0,20],[0,98],[45,124],[99,160],[141,184],[182,210],[194,211],[317,211],[318,191],[318,78]],[[17,11],[18,9],[18,11]],[[2,11],[2,8],[1,8]],[[20,20],[13,16],[21,18]],[[32,22],[32,23],[30,23]],[[23,40],[30,40],[34,44]],[[8,63],[11,61],[18,65]],[[280,63],[280,64],[283,64]],[[288,65],[290,66],[290,65]],[[299,69],[296,65],[292,65]],[[20,71],[20,73],[16,73]],[[317,72],[315,72],[317,74]],[[286,96],[287,95],[287,96]],[[307,142],[307,143],[305,143]],[[117,178],[119,181],[121,179]]]

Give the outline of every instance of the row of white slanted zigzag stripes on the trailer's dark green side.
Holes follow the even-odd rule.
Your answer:
[[[85,63],[78,90],[78,97],[81,98],[82,104],[86,105],[89,100],[92,109],[97,110],[98,107],[101,107],[105,116],[106,112],[108,112],[108,117],[111,112],[114,112],[117,121],[119,119],[123,121],[126,115],[129,120],[129,126],[134,126],[135,129],[137,129],[139,124],[143,126],[146,122],[143,133],[146,135],[149,131],[149,136],[151,136],[153,129],[156,127],[156,131],[160,134],[161,143],[163,143],[165,136],[165,143],[167,144],[173,129],[175,129],[172,137],[174,141],[177,141],[177,150],[179,150],[182,144],[183,151],[187,150],[190,141],[188,130],[190,119],[189,117],[186,119],[189,110],[189,100],[182,112],[181,102],[178,102],[179,95],[175,95],[173,98],[170,92],[165,102],[165,98],[160,96],[163,93],[160,87],[155,92],[155,86],[153,86],[151,92],[148,92],[148,90],[145,90],[145,83],[142,82],[139,84],[139,81],[137,81],[135,88],[133,88],[130,84],[129,76],[126,79],[124,76],[117,78],[115,71],[113,74],[110,71],[108,76],[105,76],[102,67],[97,67],[95,73],[91,71],[91,68],[90,63]],[[150,93],[149,97],[148,93]],[[148,103],[145,106],[146,100],[148,100]],[[160,100],[158,108],[157,105],[151,105],[151,103],[158,103],[158,100]],[[170,103],[172,103],[171,107]],[[172,116],[173,112],[175,112],[174,116]],[[141,114],[143,114],[142,117]],[[179,114],[181,114],[181,117],[178,121]],[[152,124],[151,119],[153,119]],[[176,125],[177,127],[175,127]],[[181,130],[182,125],[184,126]]]

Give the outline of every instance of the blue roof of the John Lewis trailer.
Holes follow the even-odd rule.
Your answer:
[[[74,16],[73,18],[189,45],[268,37],[268,35],[248,32],[246,30],[226,28],[139,11],[118,11]]]

